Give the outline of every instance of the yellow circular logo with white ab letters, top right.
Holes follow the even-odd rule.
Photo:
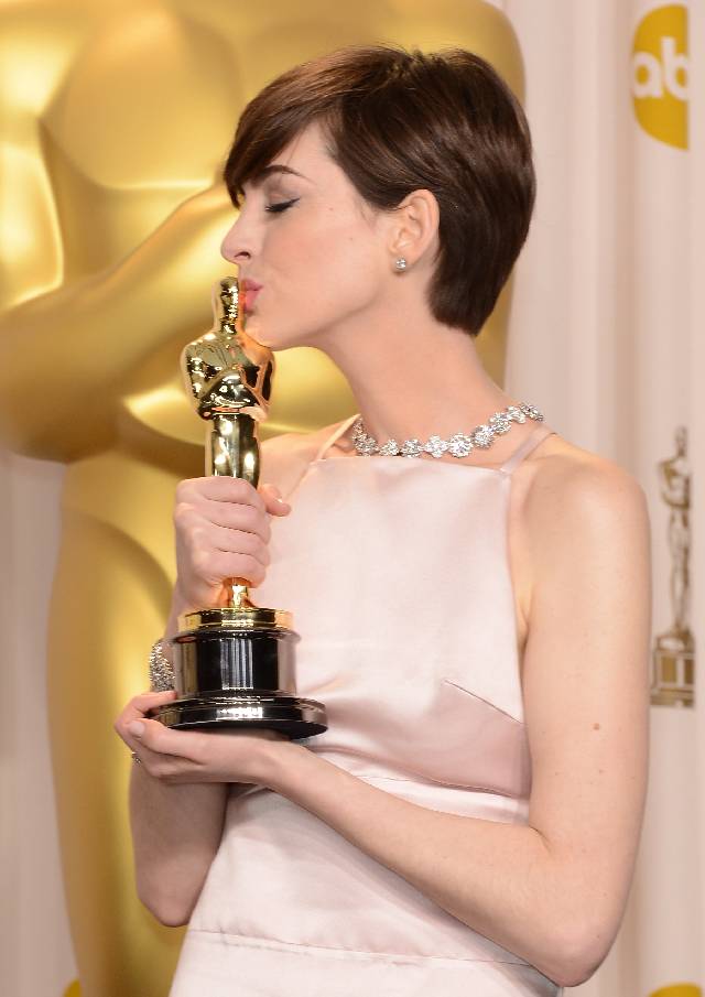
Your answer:
[[[687,149],[687,9],[657,7],[634,32],[631,94],[643,130],[677,149]]]

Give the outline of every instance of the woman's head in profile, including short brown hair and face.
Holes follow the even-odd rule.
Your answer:
[[[345,48],[284,73],[245,109],[225,181],[240,215],[223,254],[274,348],[383,327],[402,300],[477,334],[535,194],[521,106],[463,50]]]

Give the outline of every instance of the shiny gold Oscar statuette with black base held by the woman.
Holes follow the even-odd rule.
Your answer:
[[[257,488],[258,422],[267,418],[274,356],[247,335],[238,282],[214,289],[215,326],[182,354],[186,390],[206,421],[206,474],[243,478]],[[170,641],[177,697],[154,716],[167,727],[265,727],[289,737],[326,728],[322,703],[295,694],[291,614],[256,606],[247,582],[229,579],[229,604],[180,617]]]

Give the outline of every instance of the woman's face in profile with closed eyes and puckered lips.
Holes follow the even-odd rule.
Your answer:
[[[261,285],[246,294],[247,330],[273,349],[371,321],[391,286],[391,215],[364,203],[324,142],[311,126],[245,185],[221,246],[246,288]]]

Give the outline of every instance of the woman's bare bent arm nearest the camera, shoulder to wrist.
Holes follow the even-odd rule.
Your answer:
[[[638,485],[605,464],[538,476],[524,514],[535,575],[523,661],[528,824],[417,806],[295,745],[268,746],[263,780],[474,930],[575,986],[614,941],[642,817],[648,518]]]

